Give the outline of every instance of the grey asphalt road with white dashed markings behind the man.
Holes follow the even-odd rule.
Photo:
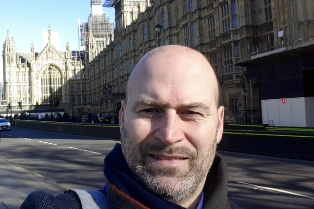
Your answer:
[[[1,132],[0,155],[63,188],[99,189],[110,139],[13,127]],[[314,162],[221,152],[230,199],[243,208],[314,208]],[[62,192],[62,191],[60,191]]]

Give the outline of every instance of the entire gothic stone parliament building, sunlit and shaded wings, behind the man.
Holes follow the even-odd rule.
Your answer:
[[[59,101],[68,112],[115,113],[136,63],[166,45],[207,57],[226,120],[256,122],[262,100],[314,96],[307,81],[314,70],[308,62],[314,52],[312,0],[107,0],[102,7],[115,8],[114,34],[99,39],[90,30],[84,59],[73,57],[68,43],[66,52],[55,50],[50,39],[41,53],[32,45],[30,53],[18,53],[8,31],[4,100],[29,107]],[[277,64],[287,61],[293,69]],[[294,83],[299,89],[291,93]]]

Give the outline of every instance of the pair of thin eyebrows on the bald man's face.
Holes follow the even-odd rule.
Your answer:
[[[132,108],[137,109],[137,108],[145,107],[145,106],[157,107],[157,108],[170,107],[169,104],[160,104],[159,102],[151,101],[151,100],[140,100],[140,101],[135,102]],[[179,108],[202,108],[202,109],[205,109],[207,111],[211,111],[210,106],[205,105],[202,102],[191,102],[191,103],[187,103],[184,105],[179,105],[178,107]]]

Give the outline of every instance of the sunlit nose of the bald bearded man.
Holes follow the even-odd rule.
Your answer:
[[[173,112],[166,112],[158,121],[158,128],[154,137],[166,145],[175,144],[184,139],[181,119],[179,115]]]

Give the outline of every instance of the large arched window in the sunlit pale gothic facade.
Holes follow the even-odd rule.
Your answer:
[[[44,69],[41,77],[41,103],[62,102],[62,76],[54,66]]]

